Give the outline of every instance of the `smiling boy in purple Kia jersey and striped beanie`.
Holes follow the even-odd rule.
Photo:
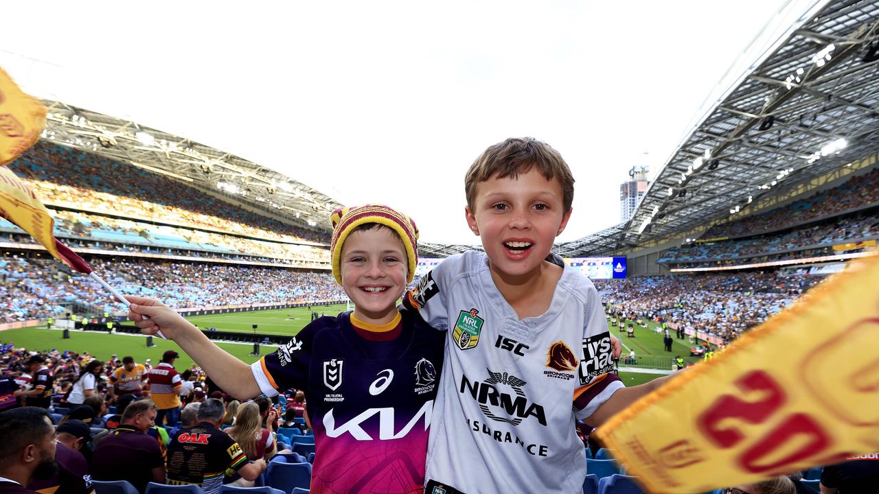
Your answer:
[[[233,396],[304,390],[312,492],[420,492],[445,338],[396,308],[417,265],[418,229],[379,205],[331,220],[333,275],[354,310],[309,323],[250,367],[161,302],[129,297],[128,316],[146,334],[163,331]]]

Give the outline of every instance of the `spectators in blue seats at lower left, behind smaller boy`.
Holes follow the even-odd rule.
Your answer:
[[[0,395],[12,395],[0,412],[9,418],[45,410],[57,433],[54,475],[34,476],[27,487],[87,494],[94,481],[126,481],[143,493],[149,482],[196,483],[216,494],[222,484],[262,484],[276,455],[275,461],[309,464],[310,473],[314,432],[300,390],[239,403],[200,367],[179,373],[178,357],[170,350],[156,355],[155,365],[115,354],[101,361],[89,352],[33,352],[0,342]],[[10,461],[4,458],[0,469]]]

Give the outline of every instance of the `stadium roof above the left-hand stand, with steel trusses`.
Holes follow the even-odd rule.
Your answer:
[[[272,217],[304,228],[329,232],[330,213],[341,207],[323,193],[240,156],[143,127],[134,121],[42,100],[48,108],[42,137],[89,153],[131,163],[224,193],[258,207]]]

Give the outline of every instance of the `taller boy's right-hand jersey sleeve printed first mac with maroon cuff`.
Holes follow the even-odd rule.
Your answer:
[[[614,348],[607,330],[607,317],[592,282],[586,287],[584,310],[579,382],[574,390],[574,415],[578,419],[591,416],[617,389],[625,387],[614,371]]]

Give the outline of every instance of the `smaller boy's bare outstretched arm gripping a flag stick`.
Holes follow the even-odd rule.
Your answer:
[[[253,398],[261,393],[257,380],[251,373],[251,366],[214,345],[193,323],[186,321],[174,309],[155,299],[130,295],[126,298],[131,302],[128,319],[134,321],[143,334],[155,335],[161,330],[166,338],[180,345],[229,395]],[[144,319],[143,316],[148,316],[149,319]]]

